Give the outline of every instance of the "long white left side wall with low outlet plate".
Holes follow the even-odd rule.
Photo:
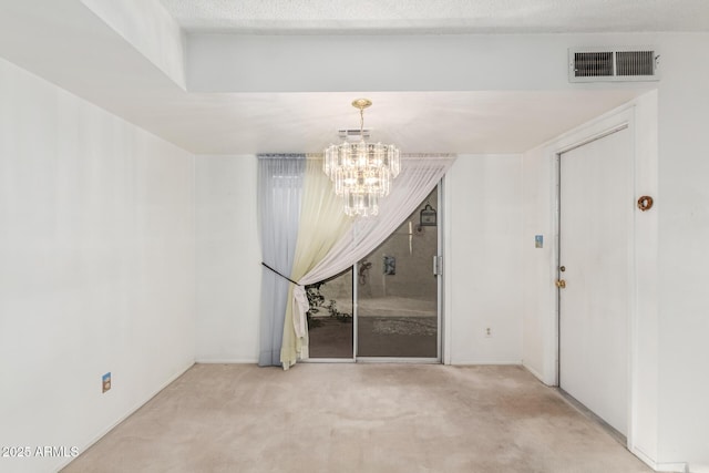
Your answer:
[[[0,445],[83,450],[194,362],[193,167],[0,60]]]

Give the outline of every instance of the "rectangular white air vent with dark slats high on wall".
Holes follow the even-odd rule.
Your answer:
[[[571,49],[568,81],[658,81],[659,56],[655,48]]]

